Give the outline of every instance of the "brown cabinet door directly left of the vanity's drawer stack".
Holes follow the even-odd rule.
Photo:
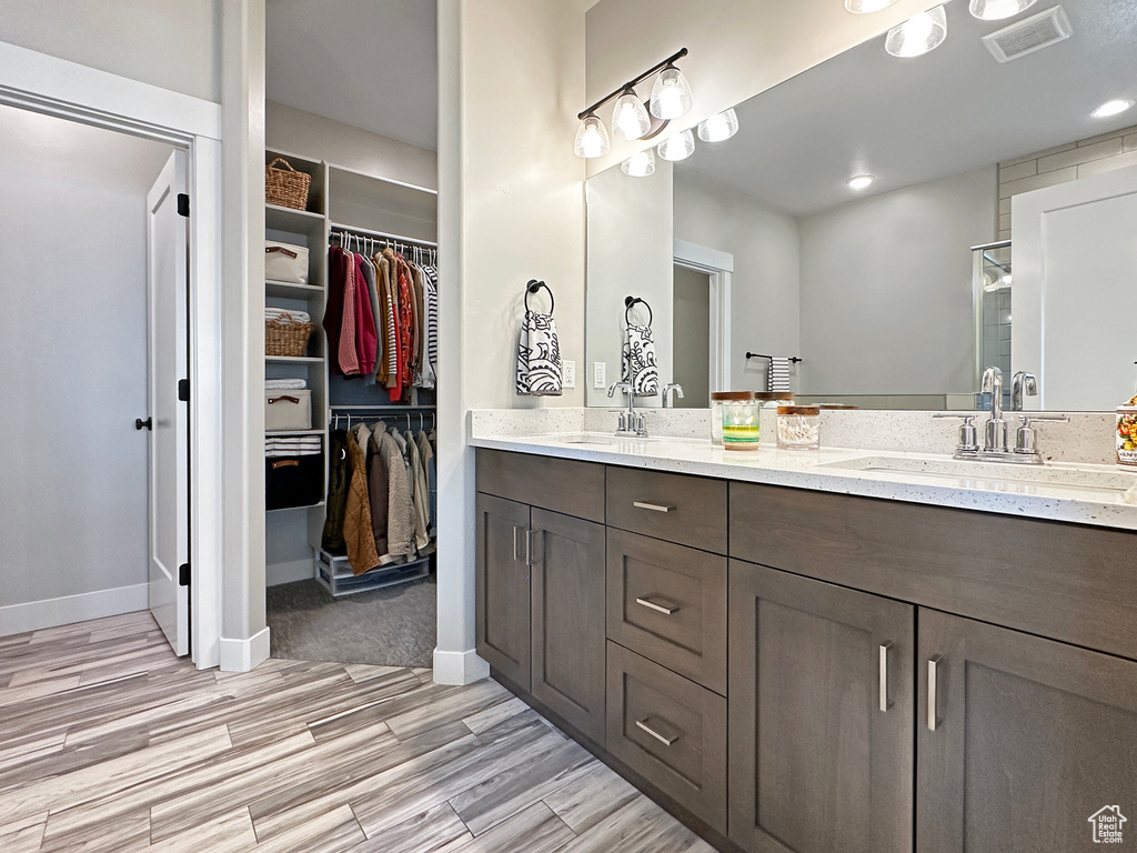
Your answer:
[[[532,694],[604,745],[604,525],[532,511]]]

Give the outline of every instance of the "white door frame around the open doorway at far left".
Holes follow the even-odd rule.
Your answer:
[[[186,150],[190,380],[190,655],[221,663],[222,109],[219,103],[0,42],[0,103]]]

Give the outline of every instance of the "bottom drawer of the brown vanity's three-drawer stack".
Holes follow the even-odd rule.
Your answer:
[[[727,699],[612,641],[608,751],[727,831]]]

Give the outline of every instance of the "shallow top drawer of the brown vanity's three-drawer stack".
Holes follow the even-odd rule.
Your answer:
[[[727,482],[608,467],[608,527],[727,553]]]

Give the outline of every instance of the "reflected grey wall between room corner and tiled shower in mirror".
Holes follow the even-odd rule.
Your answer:
[[[800,220],[803,394],[974,390],[970,248],[995,192],[991,166]]]

